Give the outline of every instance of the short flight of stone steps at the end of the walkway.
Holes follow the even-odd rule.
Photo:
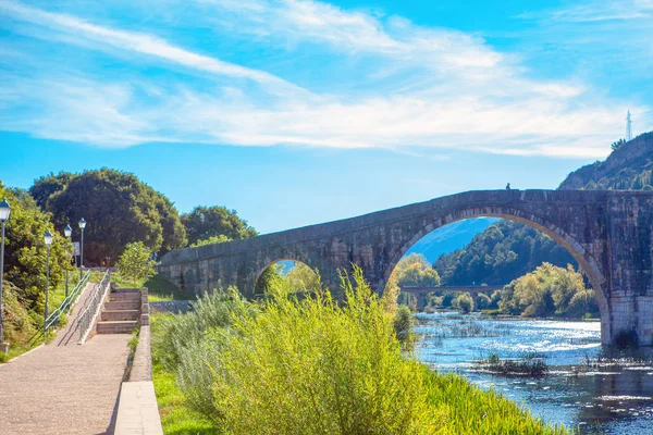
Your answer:
[[[139,319],[139,289],[113,288],[104,301],[96,332],[98,334],[131,334]]]

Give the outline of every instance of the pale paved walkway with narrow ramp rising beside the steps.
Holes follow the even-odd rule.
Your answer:
[[[77,345],[76,319],[47,346],[0,364],[0,434],[112,434],[130,334],[96,335]]]

